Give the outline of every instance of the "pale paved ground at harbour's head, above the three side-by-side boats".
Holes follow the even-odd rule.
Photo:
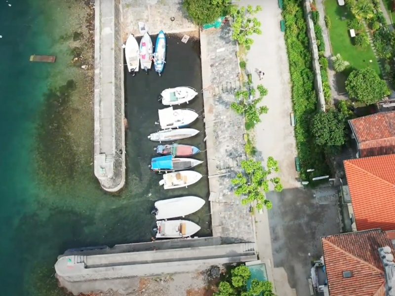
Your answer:
[[[171,20],[174,17],[174,21]],[[138,22],[146,23],[151,35],[195,31],[197,26],[186,18],[182,0],[122,0],[122,37],[139,33]]]

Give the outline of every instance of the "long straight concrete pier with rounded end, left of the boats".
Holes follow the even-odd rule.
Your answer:
[[[103,189],[125,183],[120,0],[95,0],[94,172]]]

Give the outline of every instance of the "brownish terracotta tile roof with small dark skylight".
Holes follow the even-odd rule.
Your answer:
[[[381,229],[321,238],[330,296],[385,296],[385,272],[378,248],[394,247]],[[343,271],[352,277],[344,278]]]

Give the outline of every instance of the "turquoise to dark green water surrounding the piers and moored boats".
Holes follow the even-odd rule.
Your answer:
[[[150,157],[155,156],[152,143],[141,142],[150,148],[144,151],[135,143],[146,141],[147,134],[155,130],[151,123],[157,116],[151,109],[158,106],[132,107],[130,102],[137,97],[130,88],[126,88],[127,113],[147,115],[141,127],[129,120],[127,186],[115,195],[100,189],[92,166],[92,97],[86,94],[91,91],[92,77],[79,67],[81,63],[91,65],[92,57],[73,38],[75,32],[89,37],[89,28],[81,25],[87,6],[75,0],[8,3],[12,6],[0,3],[1,294],[65,295],[53,276],[58,254],[73,247],[148,241],[153,235],[155,221],[150,211],[155,200],[187,191],[160,191],[160,177],[147,169]],[[167,72],[174,71],[175,79],[177,74],[195,77],[185,71],[200,71],[197,45],[189,42],[180,48],[182,53],[169,56],[170,61],[182,57],[195,63],[192,69],[168,66]],[[87,56],[73,64],[81,53]],[[57,60],[55,64],[30,63],[32,54],[54,54]],[[130,81],[126,77],[126,84],[149,84],[152,78],[154,75],[139,76],[142,80]],[[201,121],[196,125],[202,128]],[[202,138],[203,134],[191,144],[200,143],[204,149]],[[204,173],[205,168],[199,170]],[[207,198],[206,179],[190,189],[188,193]],[[191,216],[202,226],[201,236],[211,232],[208,213],[207,203]]]

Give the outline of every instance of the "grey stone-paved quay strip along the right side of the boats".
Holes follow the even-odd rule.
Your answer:
[[[213,236],[254,242],[249,209],[231,185],[245,159],[244,119],[230,109],[240,87],[237,46],[228,25],[201,32],[200,46]]]

